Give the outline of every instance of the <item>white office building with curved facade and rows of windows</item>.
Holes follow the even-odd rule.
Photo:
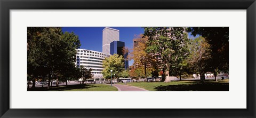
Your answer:
[[[94,81],[103,80],[102,75],[102,61],[106,57],[109,57],[110,55],[107,55],[102,52],[93,51],[93,50],[86,50],[86,49],[77,49],[76,54],[76,66],[84,66],[87,69],[92,68],[92,75]]]

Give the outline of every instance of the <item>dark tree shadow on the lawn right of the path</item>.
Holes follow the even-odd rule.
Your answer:
[[[206,81],[205,84],[199,81],[194,81],[191,84],[181,84],[181,85],[167,85],[167,86],[157,86],[154,89],[157,91],[228,91],[228,83],[215,83]]]

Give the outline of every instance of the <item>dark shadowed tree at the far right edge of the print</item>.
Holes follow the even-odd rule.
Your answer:
[[[214,76],[218,71],[228,72],[229,61],[229,28],[228,27],[193,27],[188,29],[194,36],[199,34],[209,43],[212,60],[210,71]],[[215,76],[216,78],[216,76]],[[217,79],[215,79],[217,81]]]

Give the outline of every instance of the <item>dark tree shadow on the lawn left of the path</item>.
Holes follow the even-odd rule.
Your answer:
[[[47,89],[47,87],[36,87],[36,88],[28,88],[28,91],[62,91],[62,90],[71,90],[71,89],[86,89],[86,88],[92,88],[95,86],[92,85],[68,85],[68,86],[54,86]]]

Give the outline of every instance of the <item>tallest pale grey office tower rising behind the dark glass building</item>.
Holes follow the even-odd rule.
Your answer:
[[[102,52],[110,54],[110,43],[119,41],[119,30],[106,27],[102,30]]]

